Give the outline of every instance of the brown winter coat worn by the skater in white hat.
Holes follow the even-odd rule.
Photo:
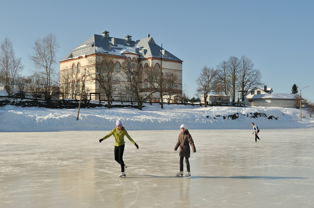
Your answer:
[[[190,157],[191,151],[190,151],[190,145],[189,144],[191,144],[192,151],[196,152],[191,134],[186,129],[184,133],[181,132],[179,134],[178,142],[176,143],[176,146],[175,146],[175,150],[177,150],[180,146],[179,156],[187,157],[187,158]]]

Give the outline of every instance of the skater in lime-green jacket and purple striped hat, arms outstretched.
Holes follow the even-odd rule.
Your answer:
[[[124,173],[125,169],[127,169],[127,165],[123,162],[123,152],[124,152],[124,136],[127,138],[138,148],[138,145],[133,141],[133,139],[127,133],[127,130],[122,126],[122,122],[117,120],[116,128],[114,128],[109,134],[107,134],[104,138],[100,139],[99,142],[102,142],[106,138],[109,138],[111,135],[115,138],[115,160],[121,165],[121,174],[120,178],[126,177]]]

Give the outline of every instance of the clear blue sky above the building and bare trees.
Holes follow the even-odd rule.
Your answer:
[[[156,44],[183,60],[183,83],[194,96],[204,65],[216,67],[245,55],[274,93],[293,84],[314,101],[314,1],[5,1],[0,41],[8,37],[22,57],[24,75],[37,37],[52,32],[61,60],[93,34],[132,40],[150,34]],[[59,70],[59,65],[56,65]]]

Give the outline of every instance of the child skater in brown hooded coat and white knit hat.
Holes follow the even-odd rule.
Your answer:
[[[192,147],[192,151],[196,152],[194,142],[192,139],[191,134],[187,130],[187,126],[185,124],[182,124],[181,127],[181,133],[179,134],[178,137],[178,142],[176,143],[175,146],[175,151],[177,151],[178,147],[180,146],[180,172],[176,174],[176,176],[183,176],[183,158],[185,157],[185,164],[187,165],[187,174],[185,177],[191,177],[191,172],[190,172],[190,162],[189,162],[189,157],[190,157],[190,146]]]

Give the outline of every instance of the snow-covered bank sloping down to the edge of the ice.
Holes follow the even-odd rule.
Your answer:
[[[115,104],[115,103],[113,103]],[[143,110],[134,108],[47,109],[39,107],[0,107],[0,132],[42,132],[65,130],[111,130],[117,119],[129,130],[178,129],[250,129],[254,122],[265,128],[307,128],[314,121],[300,109],[281,107],[200,107],[145,104]],[[277,119],[277,120],[276,120]]]

